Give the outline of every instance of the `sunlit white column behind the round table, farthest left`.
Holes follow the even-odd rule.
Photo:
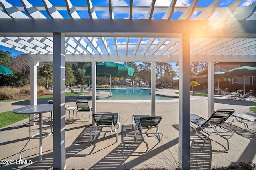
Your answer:
[[[30,105],[37,105],[37,67],[39,66],[38,61],[30,61]],[[31,115],[31,119],[35,119],[37,114]],[[30,122],[32,126],[35,122]]]

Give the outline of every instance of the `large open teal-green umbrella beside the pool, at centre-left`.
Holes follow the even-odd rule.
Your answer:
[[[92,76],[92,67],[89,66],[85,70],[86,76]],[[111,76],[113,77],[132,77],[134,76],[134,70],[130,66],[126,66],[114,62],[106,62],[96,64],[96,76],[98,77],[110,77],[110,96],[111,96]]]

